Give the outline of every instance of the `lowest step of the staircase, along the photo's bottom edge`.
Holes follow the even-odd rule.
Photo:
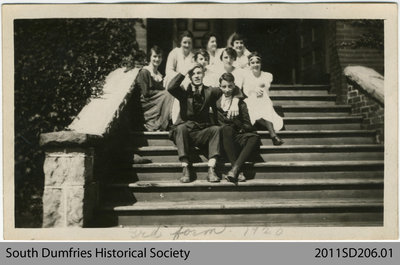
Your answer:
[[[377,199],[207,200],[137,202],[108,206],[120,226],[229,225],[229,226],[382,226],[383,201]]]

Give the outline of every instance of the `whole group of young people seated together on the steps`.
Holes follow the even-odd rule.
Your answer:
[[[231,47],[219,49],[217,36],[207,33],[204,49],[193,52],[193,35],[185,31],[179,47],[168,55],[165,78],[158,71],[163,58],[158,46],[150,49],[149,63],[137,75],[142,126],[148,131],[169,129],[182,162],[183,183],[194,179],[194,146],[208,148],[209,182],[220,181],[215,168],[223,153],[232,165],[225,178],[242,182],[242,166],[260,145],[255,125],[270,132],[274,145],[283,144],[275,132],[283,120],[268,95],[272,74],[261,71],[261,55],[249,52],[244,41],[235,33]]]

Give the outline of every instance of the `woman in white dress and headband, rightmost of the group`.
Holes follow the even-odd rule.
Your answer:
[[[243,82],[243,92],[247,96],[245,102],[249,109],[252,124],[258,123],[266,128],[274,145],[284,143],[275,131],[283,127],[283,119],[274,110],[269,98],[269,88],[273,76],[271,73],[261,71],[261,56],[257,52],[249,55],[249,72]]]

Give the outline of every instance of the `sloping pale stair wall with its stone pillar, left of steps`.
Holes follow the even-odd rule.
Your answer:
[[[103,95],[92,99],[65,131],[44,133],[43,227],[85,227],[99,200],[97,150],[117,127],[138,69],[110,73]],[[102,147],[104,150],[104,147]]]

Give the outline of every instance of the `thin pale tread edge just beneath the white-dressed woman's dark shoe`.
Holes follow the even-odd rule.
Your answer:
[[[332,151],[384,151],[384,145],[382,144],[331,144],[331,145],[261,145],[260,150],[270,150],[270,151],[302,151],[302,150],[332,150]],[[196,150],[198,148],[196,147]],[[152,145],[152,146],[142,146],[138,148],[139,152],[168,152],[177,151],[176,146],[166,146],[166,145]],[[292,152],[294,153],[294,152]]]

